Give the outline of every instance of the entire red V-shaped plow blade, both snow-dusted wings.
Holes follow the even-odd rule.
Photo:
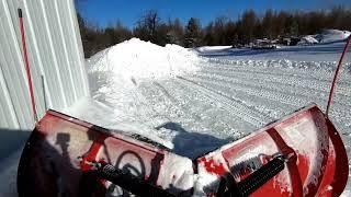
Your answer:
[[[341,138],[316,105],[191,161],[48,111],[19,165],[20,196],[339,196]]]

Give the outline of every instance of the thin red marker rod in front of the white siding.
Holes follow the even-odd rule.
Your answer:
[[[35,107],[35,99],[34,99],[34,92],[33,92],[30,62],[29,62],[29,57],[27,57],[27,53],[26,53],[25,34],[24,34],[24,25],[23,25],[23,15],[22,15],[22,10],[21,9],[19,9],[19,18],[20,18],[20,26],[21,26],[21,35],[22,35],[22,47],[23,47],[23,56],[24,56],[24,66],[25,66],[26,77],[29,79],[29,86],[30,86],[33,117],[34,117],[34,121],[36,123],[38,120],[38,118],[37,118],[37,113],[36,113],[36,107]]]

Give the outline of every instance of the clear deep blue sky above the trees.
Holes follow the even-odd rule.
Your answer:
[[[199,18],[203,25],[216,16],[237,19],[245,10],[264,13],[273,10],[318,10],[333,5],[351,7],[351,0],[82,0],[79,11],[90,22],[105,26],[117,20],[133,27],[147,10],[157,10],[160,18],[179,18],[183,24],[191,16]]]

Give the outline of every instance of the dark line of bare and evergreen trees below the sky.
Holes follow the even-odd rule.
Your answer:
[[[184,47],[202,45],[246,45],[257,38],[298,37],[317,34],[324,28],[351,30],[351,9],[335,7],[319,11],[273,11],[258,14],[245,11],[237,20],[218,16],[204,26],[196,18],[185,24],[179,19],[162,20],[156,10],[146,11],[131,30],[117,20],[105,27],[87,22],[78,13],[84,55],[93,54],[129,39],[138,37],[158,45],[168,43]]]

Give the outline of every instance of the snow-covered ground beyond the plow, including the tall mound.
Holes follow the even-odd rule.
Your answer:
[[[312,102],[325,109],[343,45],[190,50],[134,38],[87,61],[92,99],[66,113],[140,134],[180,155],[196,158]],[[330,112],[349,157],[350,59],[346,59]],[[344,196],[350,195],[350,187],[349,183]]]

